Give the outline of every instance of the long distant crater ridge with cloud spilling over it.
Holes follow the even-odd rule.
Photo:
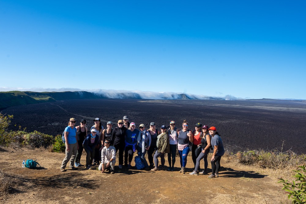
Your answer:
[[[0,92],[0,110],[11,106],[29,105],[43,102],[54,102],[68,99],[98,99],[98,98],[119,98],[119,99],[152,99],[133,92],[107,92],[92,93],[87,91],[64,91],[64,92],[33,92],[33,91],[7,91]],[[194,95],[187,94],[160,94],[158,99],[163,100],[191,100],[199,99]],[[201,98],[203,99],[203,98]],[[224,98],[207,97],[207,100],[224,100]]]

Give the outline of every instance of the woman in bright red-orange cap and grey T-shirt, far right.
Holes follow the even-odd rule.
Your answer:
[[[211,157],[211,175],[208,176],[208,178],[215,178],[219,177],[220,160],[225,153],[225,150],[217,129],[212,126],[208,129],[208,132],[211,135],[211,146],[214,149],[214,153]]]

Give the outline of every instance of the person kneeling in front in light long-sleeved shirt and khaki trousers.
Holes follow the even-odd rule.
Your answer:
[[[101,150],[101,163],[99,165],[99,171],[103,173],[105,168],[110,167],[110,173],[114,173],[116,163],[116,148],[110,145],[110,139],[105,139],[104,147]]]

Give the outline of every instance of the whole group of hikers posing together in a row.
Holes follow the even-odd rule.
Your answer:
[[[211,157],[212,173],[208,178],[218,177],[220,160],[225,150],[223,142],[217,129],[208,127],[201,123],[194,125],[194,130],[188,129],[186,120],[182,123],[182,128],[175,127],[175,121],[170,121],[170,127],[162,125],[160,130],[156,128],[154,122],[150,123],[150,128],[146,130],[144,124],[136,128],[134,122],[129,123],[127,116],[123,120],[118,120],[117,127],[113,128],[111,121],[107,122],[106,129],[103,128],[101,120],[95,118],[94,125],[87,135],[86,120],[82,119],[79,126],[76,126],[75,118],[70,118],[68,126],[65,128],[65,158],[62,162],[61,171],[70,160],[69,169],[76,169],[81,166],[80,158],[83,148],[86,151],[86,168],[91,169],[94,165],[99,165],[99,170],[104,172],[106,168],[110,173],[114,173],[116,153],[118,152],[118,168],[125,166],[131,169],[131,162],[134,152],[140,157],[144,169],[158,171],[164,168],[164,154],[168,154],[168,171],[174,171],[175,157],[178,150],[180,156],[179,172],[185,174],[187,156],[192,151],[192,161],[194,169],[190,175],[207,174],[207,155],[213,150]],[[148,154],[148,162],[145,154]],[[124,157],[123,157],[124,155]],[[161,166],[159,168],[160,157]],[[123,159],[124,158],[124,159]],[[200,161],[204,160],[204,170],[200,172]]]

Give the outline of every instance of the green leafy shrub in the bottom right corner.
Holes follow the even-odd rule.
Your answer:
[[[293,204],[295,203],[306,203],[306,170],[305,165],[298,166],[297,170],[293,170],[296,174],[293,176],[296,179],[291,182],[280,178],[278,183],[283,184],[282,190],[288,192],[288,199]]]

